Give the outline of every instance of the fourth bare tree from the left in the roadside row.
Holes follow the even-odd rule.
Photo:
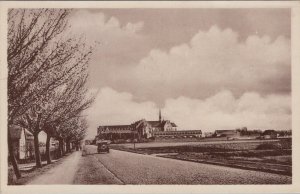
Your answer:
[[[94,101],[95,95],[86,89],[87,72],[75,77],[58,90],[52,97],[53,106],[47,115],[47,125],[55,126],[55,137],[60,142],[61,155],[63,155],[63,144],[69,144],[73,137],[73,130],[76,129],[75,121],[82,117],[82,112],[86,110]],[[53,128],[53,127],[52,127]],[[44,129],[47,133],[47,128]],[[47,133],[54,134],[54,133]]]

